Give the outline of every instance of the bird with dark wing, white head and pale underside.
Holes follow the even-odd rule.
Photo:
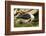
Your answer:
[[[23,15],[17,15],[16,18],[21,18],[18,20],[18,22],[28,23],[32,22],[34,20],[34,16],[32,14],[23,14]]]

